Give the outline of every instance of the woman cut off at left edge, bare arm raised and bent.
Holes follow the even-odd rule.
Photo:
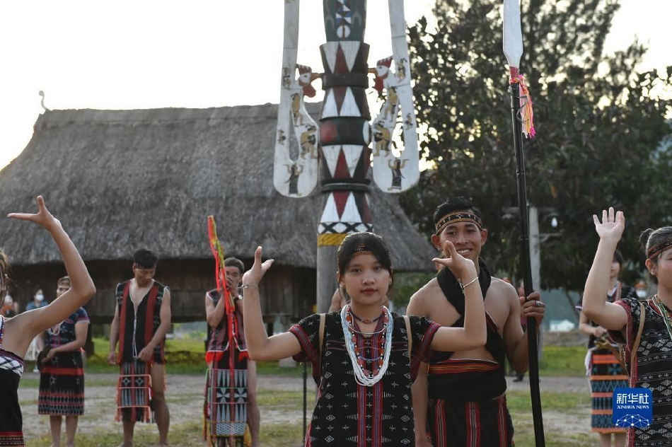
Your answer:
[[[79,252],[61,223],[47,211],[41,196],[37,197],[37,207],[37,214],[12,213],[9,217],[32,221],[50,233],[63,257],[71,288],[50,306],[29,310],[12,318],[0,315],[0,446],[3,447],[23,446],[23,419],[17,389],[28,346],[40,332],[61,323],[95,294],[95,286]],[[6,256],[0,252],[0,295],[6,290],[7,268]]]

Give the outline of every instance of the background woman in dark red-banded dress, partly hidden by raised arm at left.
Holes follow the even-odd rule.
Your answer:
[[[56,298],[70,289],[70,278],[58,280]],[[74,447],[79,417],[84,414],[84,364],[81,348],[86,343],[88,314],[79,308],[72,315],[42,332],[40,350],[47,347],[40,369],[37,413],[49,414],[52,447],[61,445],[61,425],[65,417],[67,446]]]

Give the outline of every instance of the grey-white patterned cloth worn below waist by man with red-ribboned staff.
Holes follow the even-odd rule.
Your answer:
[[[213,444],[233,438],[242,446],[248,420],[248,359],[236,355],[234,369],[226,369],[222,367],[228,365],[228,352],[216,354],[219,358],[211,362],[214,367],[208,368],[205,381],[204,434]]]

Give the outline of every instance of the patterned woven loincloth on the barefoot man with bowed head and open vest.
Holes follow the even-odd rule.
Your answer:
[[[153,422],[151,376],[144,361],[124,362],[117,381],[117,421]]]

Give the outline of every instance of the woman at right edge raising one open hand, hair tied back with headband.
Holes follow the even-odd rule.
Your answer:
[[[600,242],[584,289],[583,312],[586,317],[626,346],[627,358],[635,349],[630,365],[630,386],[649,388],[653,393],[653,421],[649,426],[628,429],[628,446],[669,446],[672,439],[672,405],[669,402],[669,374],[672,351],[672,227],[642,233],[646,266],[658,283],[658,294],[646,301],[621,297],[614,303],[604,300],[609,288],[610,269],[616,245],[625,229],[622,211],[602,211],[602,219],[593,216]],[[640,337],[640,320],[643,327]],[[637,422],[639,424],[639,422]],[[644,425],[644,424],[642,424]]]

